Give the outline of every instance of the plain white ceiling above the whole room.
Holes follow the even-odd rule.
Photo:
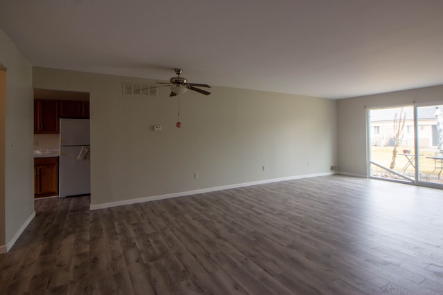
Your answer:
[[[443,84],[442,0],[0,0],[0,28],[33,66],[159,80],[179,67],[327,98]]]

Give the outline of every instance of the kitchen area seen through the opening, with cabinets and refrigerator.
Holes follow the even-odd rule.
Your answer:
[[[90,193],[89,93],[34,89],[35,198]]]

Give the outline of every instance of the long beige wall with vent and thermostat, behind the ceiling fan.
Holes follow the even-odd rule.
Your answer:
[[[123,82],[150,81],[33,70],[35,88],[90,93],[92,204],[325,173],[337,164],[334,100],[222,87],[208,97],[188,91],[177,129],[177,98],[167,88],[157,97],[122,95]],[[154,124],[162,131],[152,131]]]

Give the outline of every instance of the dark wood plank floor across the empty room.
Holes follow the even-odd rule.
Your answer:
[[[443,294],[437,189],[327,176],[35,207],[0,256],[0,294]]]

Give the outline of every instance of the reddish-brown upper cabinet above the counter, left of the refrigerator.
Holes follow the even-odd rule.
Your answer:
[[[60,101],[34,99],[34,133],[59,133]]]

